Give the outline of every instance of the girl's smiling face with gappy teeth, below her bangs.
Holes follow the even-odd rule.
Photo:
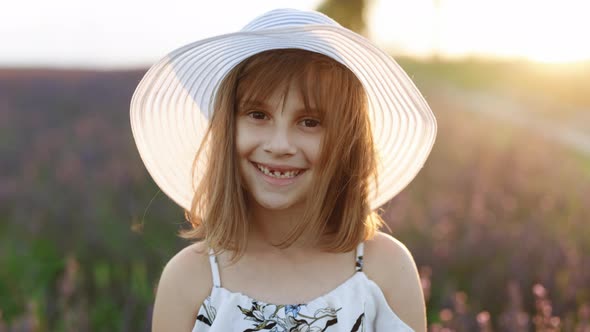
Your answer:
[[[250,197],[282,210],[301,205],[312,190],[324,128],[318,113],[305,110],[296,85],[286,97],[276,90],[268,100],[239,102],[236,148]]]

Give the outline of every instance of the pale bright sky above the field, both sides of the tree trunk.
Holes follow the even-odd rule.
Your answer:
[[[321,0],[7,0],[0,67],[146,67],[265,11]],[[587,0],[373,0],[369,37],[392,54],[590,59]],[[586,8],[588,7],[588,8]]]

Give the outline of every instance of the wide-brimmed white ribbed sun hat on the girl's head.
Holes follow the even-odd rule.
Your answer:
[[[141,158],[160,189],[190,210],[207,163],[191,168],[209,125],[219,83],[246,58],[298,48],[327,55],[362,83],[377,151],[373,209],[404,189],[423,167],[436,138],[436,119],[401,67],[366,38],[314,11],[276,9],[242,30],[180,47],[153,65],[131,99],[131,128]],[[376,190],[378,188],[378,191]]]

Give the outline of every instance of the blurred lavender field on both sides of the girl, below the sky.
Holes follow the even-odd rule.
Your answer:
[[[429,329],[590,331],[590,155],[549,127],[480,112],[466,86],[514,92],[527,116],[586,135],[582,79],[560,77],[579,91],[552,95],[551,82],[486,85],[482,73],[457,79],[460,67],[402,64],[439,132],[382,212],[414,254]],[[133,143],[143,73],[0,70],[0,332],[149,331],[161,269],[187,242]]]

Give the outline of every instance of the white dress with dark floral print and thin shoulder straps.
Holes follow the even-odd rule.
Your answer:
[[[273,304],[221,286],[211,253],[213,288],[192,332],[373,332],[413,331],[391,310],[379,286],[363,272],[363,243],[356,249],[356,273],[310,302]]]

